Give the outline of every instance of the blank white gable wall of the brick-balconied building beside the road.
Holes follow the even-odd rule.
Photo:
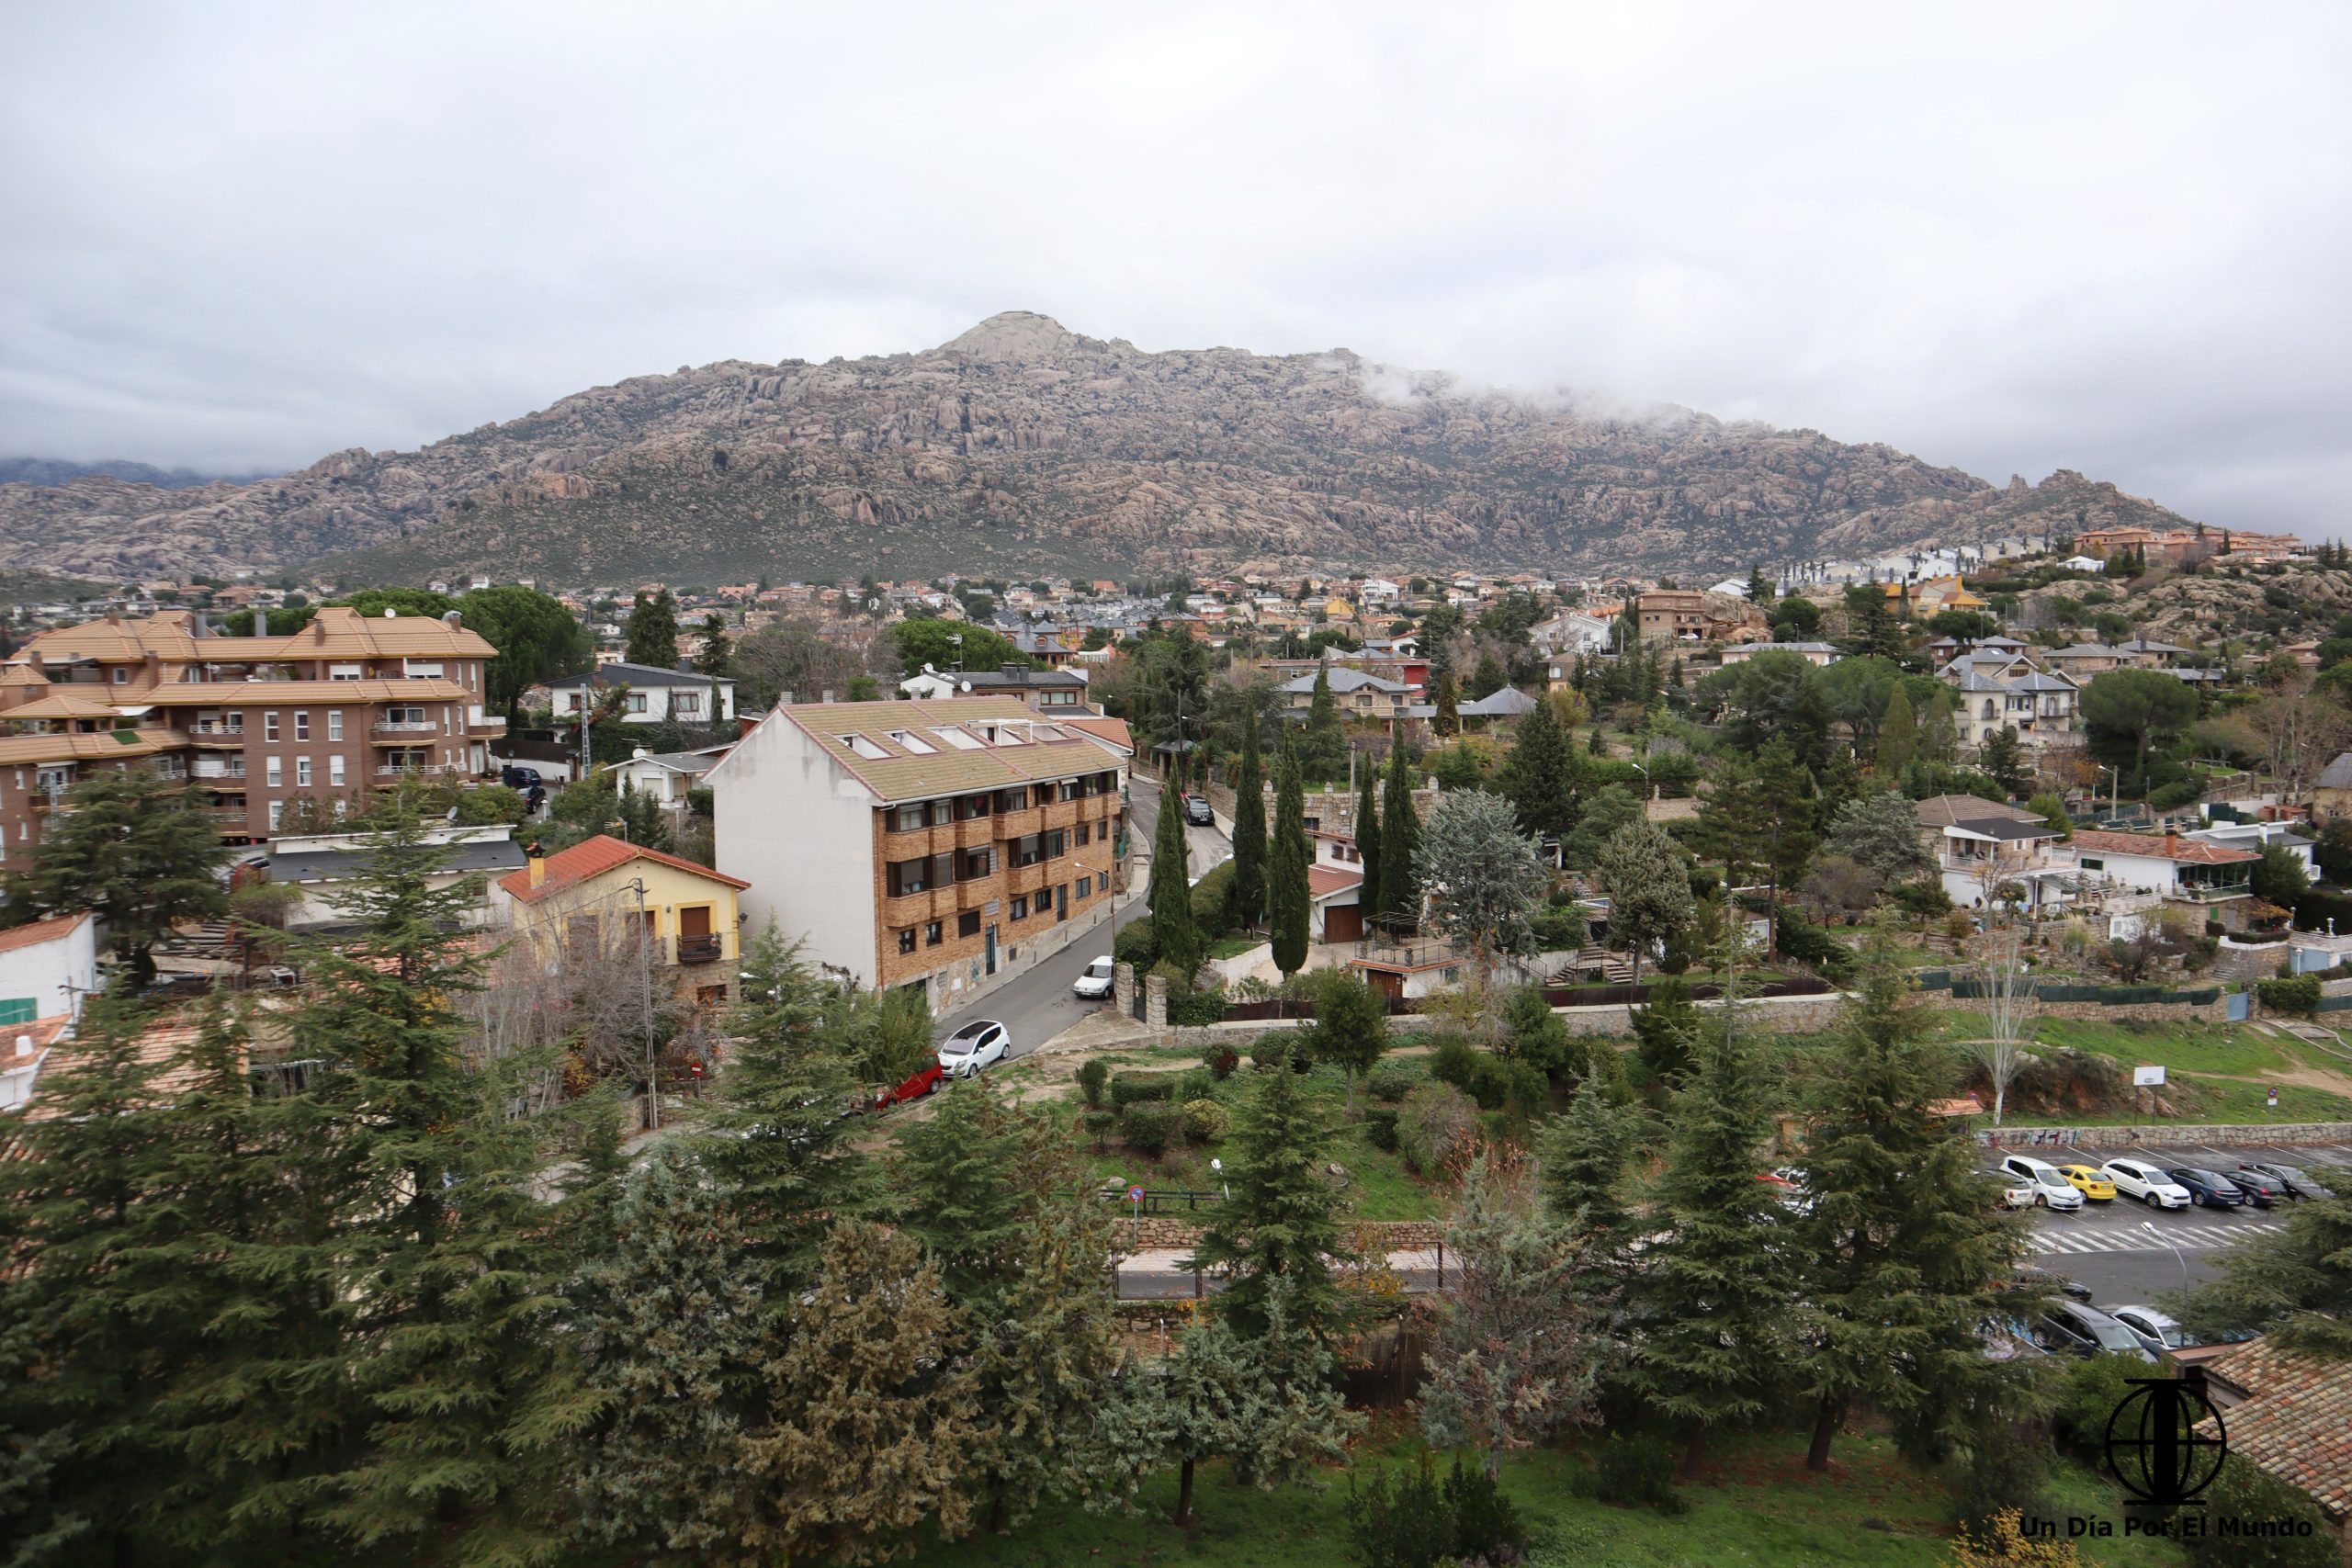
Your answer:
[[[811,964],[875,983],[873,792],[781,715],[760,722],[710,773],[720,865],[750,882],[743,938],[774,919]]]

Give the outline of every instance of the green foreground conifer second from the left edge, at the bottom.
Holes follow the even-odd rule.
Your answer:
[[[174,1234],[151,1293],[176,1324],[158,1422],[186,1455],[186,1483],[158,1486],[172,1537],[198,1552],[296,1552],[318,1481],[353,1427],[334,1378],[350,1333],[339,1239],[353,1185],[336,1126],[313,1088],[252,1074],[242,1011],[214,994],[172,1063],[162,1199]]]

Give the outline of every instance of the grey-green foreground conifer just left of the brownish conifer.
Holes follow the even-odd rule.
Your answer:
[[[757,1561],[739,1450],[764,1413],[774,1324],[734,1215],[682,1150],[621,1190],[576,1316],[597,1422],[572,1460],[583,1540],[654,1556]]]

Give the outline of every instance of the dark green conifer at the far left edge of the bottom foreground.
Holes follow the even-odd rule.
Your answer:
[[[183,1479],[155,1415],[176,1335],[146,1314],[146,1295],[172,1284],[174,1237],[162,1063],[141,1051],[146,1025],[132,1001],[92,997],[75,1037],[52,1046],[45,1114],[14,1128],[14,1157],[0,1159],[7,1241],[26,1260],[0,1284],[0,1333],[24,1368],[0,1385],[0,1434],[24,1446],[0,1476],[26,1488],[0,1493],[0,1521],[12,1544],[52,1542],[59,1563],[132,1561],[167,1523],[158,1493]]]

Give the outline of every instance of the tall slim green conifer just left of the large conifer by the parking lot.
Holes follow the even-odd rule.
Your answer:
[[[1726,954],[1726,971],[1736,954]],[[1689,1434],[1696,1476],[1708,1432],[1766,1408],[1788,1361],[1785,1215],[1757,1180],[1771,1114],[1764,1074],[1729,999],[1675,1098],[1665,1173],[1651,1222],[1668,1234],[1642,1253],[1635,1387]]]

